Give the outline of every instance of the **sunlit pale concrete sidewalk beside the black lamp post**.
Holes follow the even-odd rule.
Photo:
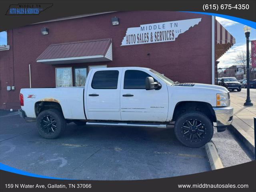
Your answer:
[[[230,94],[231,106],[234,107],[234,127],[242,128],[254,140],[254,117],[256,117],[256,103],[253,106],[244,106],[245,99],[238,94]]]

